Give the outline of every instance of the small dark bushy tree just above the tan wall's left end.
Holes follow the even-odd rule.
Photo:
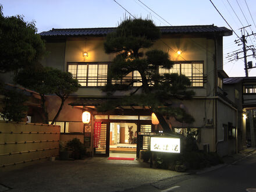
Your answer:
[[[26,95],[17,90],[5,90],[3,98],[3,109],[1,117],[5,120],[13,120],[15,122],[22,121],[26,117],[27,106],[24,102],[27,101]]]

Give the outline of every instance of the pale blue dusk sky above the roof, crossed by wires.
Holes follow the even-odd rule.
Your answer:
[[[116,2],[135,17],[154,20],[157,26],[214,24],[230,29],[209,0],[116,0]],[[116,27],[125,15],[129,16],[129,13],[116,2],[113,0],[0,0],[4,16],[23,15],[27,22],[35,20],[38,33],[52,28]],[[212,0],[212,2],[239,37],[241,37],[239,29],[248,24],[251,24],[251,27],[246,28],[247,32],[256,33],[255,0]],[[232,62],[227,62],[226,59],[228,53],[242,48],[234,44],[234,40],[238,39],[236,34],[223,37],[223,65],[230,77],[245,76],[242,59]],[[255,35],[251,35],[247,38],[247,45],[254,44],[256,48]],[[251,53],[251,51],[247,52],[248,55]],[[248,57],[247,61],[253,61],[255,66],[256,59],[252,56]],[[256,76],[256,69],[249,70],[249,76]]]

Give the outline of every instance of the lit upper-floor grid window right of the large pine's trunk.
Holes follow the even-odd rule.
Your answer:
[[[159,74],[184,74],[191,81],[192,87],[204,86],[204,64],[200,62],[175,63],[171,69],[159,68]]]

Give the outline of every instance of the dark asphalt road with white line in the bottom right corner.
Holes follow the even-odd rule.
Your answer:
[[[216,168],[216,167],[215,167]],[[166,179],[127,191],[256,192],[256,153],[212,171]]]

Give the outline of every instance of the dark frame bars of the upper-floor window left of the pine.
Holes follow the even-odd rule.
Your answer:
[[[109,65],[110,65],[111,62],[67,62],[67,66],[66,66],[66,71],[69,72],[69,66],[70,65],[76,65],[76,76],[73,76],[74,79],[77,79],[77,69],[79,65],[86,65],[87,66],[87,70],[86,70],[86,86],[82,86],[81,87],[104,87],[104,86],[98,86],[98,83],[103,83],[101,81],[99,81],[99,76],[98,76],[98,73],[99,73],[99,67],[97,66],[97,81],[93,81],[93,82],[90,82],[90,77],[88,76],[89,74],[89,65],[107,65],[107,69],[106,69],[106,83],[108,83],[108,70],[109,70]],[[79,79],[77,79],[79,80]],[[96,86],[88,86],[88,83],[96,83],[97,85]]]

